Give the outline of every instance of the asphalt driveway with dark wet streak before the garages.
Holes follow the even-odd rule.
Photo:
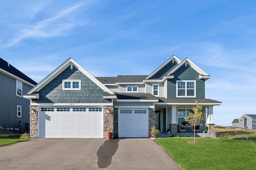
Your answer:
[[[0,147],[5,170],[180,170],[152,139],[32,139]]]

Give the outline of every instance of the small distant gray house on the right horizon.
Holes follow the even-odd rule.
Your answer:
[[[232,121],[232,127],[256,129],[256,115],[242,115],[239,119]]]

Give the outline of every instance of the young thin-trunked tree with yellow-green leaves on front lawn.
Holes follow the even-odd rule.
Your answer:
[[[198,104],[198,101],[195,101],[196,106],[192,108],[194,113],[189,113],[187,117],[185,117],[185,121],[190,123],[190,125],[194,126],[194,143],[196,143],[195,137],[195,129],[197,125],[202,126],[201,123],[203,120],[206,120],[205,113],[202,113],[203,107]]]

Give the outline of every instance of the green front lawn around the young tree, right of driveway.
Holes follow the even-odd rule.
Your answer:
[[[193,137],[155,139],[184,170],[255,170],[256,143]]]

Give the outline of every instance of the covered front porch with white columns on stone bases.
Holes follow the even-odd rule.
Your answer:
[[[193,136],[194,128],[187,125],[184,118],[189,112],[192,112],[192,107],[196,106],[196,100],[203,107],[202,112],[205,113],[206,121],[202,121],[203,126],[196,127],[195,132],[199,137],[203,136],[203,129],[207,129],[208,133],[213,133],[214,136],[213,107],[222,103],[211,99],[159,98],[159,102],[155,103],[155,125],[158,130],[163,134],[170,130],[170,133],[167,134],[170,134],[170,137],[176,134],[179,136]]]

